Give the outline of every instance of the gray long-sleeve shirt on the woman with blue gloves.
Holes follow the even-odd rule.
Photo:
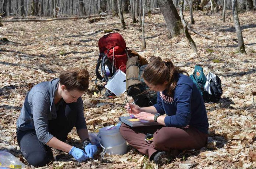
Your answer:
[[[26,95],[21,114],[17,120],[17,128],[21,131],[35,129],[40,142],[46,144],[52,137],[48,130],[48,120],[57,118],[54,104],[55,92],[58,89],[59,78],[50,82],[41,82],[35,85]],[[78,98],[75,102],[77,107],[77,122],[75,127],[87,129],[83,115],[83,100]]]

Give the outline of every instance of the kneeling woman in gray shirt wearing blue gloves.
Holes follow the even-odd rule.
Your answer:
[[[45,166],[57,160],[57,150],[71,154],[79,162],[93,158],[97,147],[89,140],[81,98],[88,87],[87,70],[67,70],[28,92],[17,121],[17,140],[30,165]],[[74,126],[83,150],[65,143]]]

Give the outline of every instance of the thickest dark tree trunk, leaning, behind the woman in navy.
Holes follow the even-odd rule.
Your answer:
[[[162,14],[164,16],[164,20],[166,21],[168,32],[171,37],[175,37],[181,33],[183,33],[183,26],[181,23],[181,18],[175,8],[172,0],[158,0],[157,1]]]

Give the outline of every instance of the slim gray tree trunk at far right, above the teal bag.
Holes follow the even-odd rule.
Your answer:
[[[232,12],[234,17],[235,31],[237,32],[238,50],[239,53],[246,54],[245,44],[243,43],[243,34],[241,31],[241,26],[238,18],[237,0],[232,0]]]

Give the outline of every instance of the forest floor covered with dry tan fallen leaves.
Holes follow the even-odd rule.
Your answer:
[[[84,114],[90,132],[113,125],[118,117],[128,115],[123,109],[126,93],[114,99],[104,99],[104,92],[95,89],[95,67],[99,49],[98,40],[104,30],[113,29],[124,37],[127,47],[142,56],[170,58],[175,65],[193,73],[194,66],[217,74],[222,82],[223,95],[218,103],[206,104],[209,118],[209,140],[199,150],[184,150],[168,165],[157,166],[131,147],[127,154],[109,155],[77,163],[70,156],[52,162],[50,169],[61,168],[256,168],[256,12],[239,14],[247,55],[238,54],[238,43],[232,12],[222,16],[193,13],[193,29],[210,36],[206,39],[193,32],[198,48],[195,55],[184,36],[170,39],[161,14],[145,18],[147,48],[142,49],[141,27],[125,15],[127,29],[121,29],[117,17],[88,23],[88,19],[53,22],[3,23],[0,38],[0,150],[7,149],[16,157],[21,151],[16,139],[16,121],[26,93],[35,84],[58,77],[65,69],[86,68],[90,73],[89,91],[83,95]],[[189,13],[185,19],[190,23]],[[97,94],[94,94],[94,93]],[[253,98],[254,95],[254,98]],[[130,99],[130,98],[129,98]],[[68,142],[79,143],[73,129]],[[24,162],[26,164],[26,162]]]

